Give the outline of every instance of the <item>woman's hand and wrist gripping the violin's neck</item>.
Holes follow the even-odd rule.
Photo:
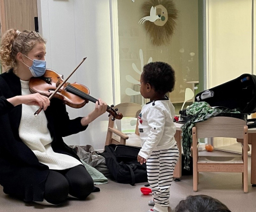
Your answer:
[[[89,113],[88,116],[83,117],[81,119],[81,124],[83,126],[90,124],[93,120],[104,114],[106,112],[107,107],[108,105],[106,105],[106,102],[99,99],[95,103],[95,109],[91,113]]]

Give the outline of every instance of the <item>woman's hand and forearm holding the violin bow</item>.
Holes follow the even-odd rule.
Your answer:
[[[47,96],[43,96],[41,94],[29,94],[23,96],[14,96],[13,98],[7,99],[13,106],[17,106],[20,104],[25,105],[37,105],[43,107],[44,110],[50,105],[50,101]]]

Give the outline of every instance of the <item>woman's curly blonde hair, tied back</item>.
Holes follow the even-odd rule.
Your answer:
[[[17,69],[16,55],[18,52],[26,55],[38,43],[46,43],[45,39],[35,31],[20,32],[10,29],[3,34],[0,46],[0,60],[3,66]]]

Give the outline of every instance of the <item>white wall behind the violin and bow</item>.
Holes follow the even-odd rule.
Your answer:
[[[112,105],[109,1],[41,0],[38,1],[38,19],[40,33],[47,39],[48,69],[66,78],[87,57],[69,82],[86,85],[91,96]],[[67,111],[71,118],[75,118],[86,116],[94,107],[94,103],[89,102],[81,109],[67,106]],[[67,145],[90,144],[94,149],[103,149],[107,126],[108,113],[105,113],[86,131],[65,138],[65,142]]]

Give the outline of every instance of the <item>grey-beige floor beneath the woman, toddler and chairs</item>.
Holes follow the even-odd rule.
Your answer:
[[[216,151],[217,152],[217,151]],[[220,153],[226,154],[226,153]],[[248,167],[251,164],[249,158]],[[221,200],[232,212],[256,211],[256,187],[250,184],[250,169],[248,176],[248,193],[243,192],[240,173],[200,173],[198,192],[193,192],[193,176],[182,176],[180,182],[173,181],[170,189],[170,207],[173,211],[180,200],[188,195],[209,195]],[[24,203],[5,195],[0,187],[0,211],[31,212],[31,211],[62,211],[62,212],[147,212],[151,209],[148,201],[152,196],[144,196],[140,188],[146,183],[118,184],[109,179],[108,184],[97,185],[101,191],[92,193],[87,200],[70,199],[61,206],[41,206],[36,203]]]

